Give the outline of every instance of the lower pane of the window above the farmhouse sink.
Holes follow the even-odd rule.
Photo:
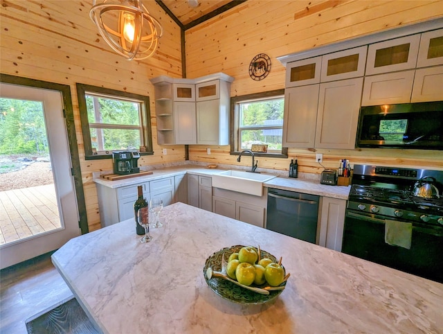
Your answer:
[[[251,149],[252,144],[268,144],[269,150],[282,150],[282,129],[241,130],[241,150]]]

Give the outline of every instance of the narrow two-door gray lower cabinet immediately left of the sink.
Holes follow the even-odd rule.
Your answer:
[[[213,211],[212,177],[188,174],[188,204]]]

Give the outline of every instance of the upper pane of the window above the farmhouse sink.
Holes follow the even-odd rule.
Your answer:
[[[280,125],[283,123],[283,98],[252,103],[240,103],[240,128],[250,125]],[[281,120],[281,123],[275,122]]]

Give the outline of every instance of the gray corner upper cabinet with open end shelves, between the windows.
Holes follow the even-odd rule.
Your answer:
[[[233,80],[224,73],[197,79],[150,79],[155,92],[157,142],[228,145]]]

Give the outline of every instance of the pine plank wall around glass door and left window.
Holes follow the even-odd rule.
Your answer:
[[[92,1],[1,1],[0,72],[71,86],[82,182],[89,231],[100,228],[96,184],[92,173],[111,170],[110,159],[84,159],[75,82],[150,96],[154,156],[139,159],[141,166],[183,161],[183,146],[168,146],[163,156],[156,141],[154,87],[156,76],[181,78],[180,28],[155,1],[147,10],[161,21],[165,33],[152,58],[129,62],[103,41],[89,18]]]

